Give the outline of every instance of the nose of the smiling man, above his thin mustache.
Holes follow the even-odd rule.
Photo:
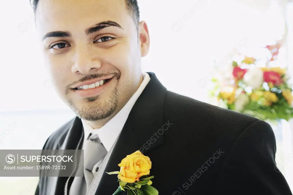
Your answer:
[[[75,53],[75,61],[71,67],[71,71],[73,73],[86,75],[95,73],[98,69],[101,68],[100,59],[89,54],[89,51],[87,50]]]

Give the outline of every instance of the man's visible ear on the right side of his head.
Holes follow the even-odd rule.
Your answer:
[[[139,43],[142,57],[145,57],[149,53],[149,29],[145,21],[139,23]]]

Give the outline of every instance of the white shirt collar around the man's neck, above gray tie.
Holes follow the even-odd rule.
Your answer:
[[[151,78],[149,74],[144,72],[143,81],[139,85],[139,88],[136,90],[136,92],[128,100],[125,106],[101,128],[93,129],[88,124],[88,122],[86,122],[84,119],[81,119],[81,122],[84,127],[84,138],[87,138],[87,136],[90,133],[98,134],[100,141],[103,143],[106,150],[109,151],[111,147],[113,146],[116,138],[119,136],[134,103],[136,102],[136,100],[138,99],[138,97],[140,96],[144,88],[147,86],[150,79]]]

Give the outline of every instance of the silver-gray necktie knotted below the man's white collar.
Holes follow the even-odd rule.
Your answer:
[[[99,168],[100,163],[107,154],[106,148],[101,143],[98,135],[89,135],[84,141],[84,177],[74,177],[71,184],[69,195],[85,195],[88,191],[94,175]]]

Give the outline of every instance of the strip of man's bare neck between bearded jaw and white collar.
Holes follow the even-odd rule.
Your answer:
[[[88,122],[88,124],[93,129],[101,128],[102,126],[104,126],[108,121],[110,121],[126,105],[128,100],[137,91],[137,89],[139,88],[139,86],[142,83],[142,81],[143,81],[143,74],[141,74],[139,82],[132,88],[132,90],[129,91],[129,93],[127,94],[127,97],[125,97],[125,100],[121,101],[121,103],[117,105],[116,110],[109,117],[107,117],[105,119],[100,119],[100,120],[97,120],[97,121],[86,121],[86,122]]]

